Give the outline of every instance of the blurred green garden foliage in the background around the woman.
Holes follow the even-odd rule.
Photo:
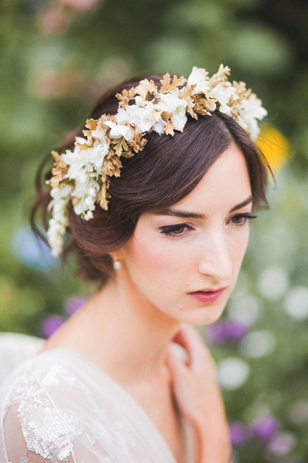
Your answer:
[[[234,316],[238,300],[247,300],[248,306],[253,301],[259,308],[248,334],[271,333],[274,348],[254,358],[243,347],[247,334],[212,340],[218,362],[240,358],[249,366],[242,385],[225,388],[230,421],[253,430],[262,414],[274,415],[280,432],[291,433],[284,453],[283,445],[280,453],[279,445],[273,451],[273,443],[271,450],[268,436],[263,441],[246,436],[235,446],[234,461],[240,463],[308,459],[308,314],[304,301],[301,317],[285,310],[294,288],[308,286],[307,24],[304,0],[0,3],[3,331],[42,335],[43,320],[63,314],[65,299],[85,291],[69,269],[37,255],[25,221],[41,159],[87,118],[95,99],[111,85],[140,74],[187,75],[193,65],[211,74],[223,63],[232,69],[231,78],[244,80],[262,98],[267,121],[291,140],[288,162],[277,174],[277,187],[271,187],[271,211],[260,213],[253,227],[243,273],[225,314],[225,319]],[[284,287],[276,298],[268,298],[262,272],[269,269],[270,274],[273,268],[278,280],[284,275]]]

